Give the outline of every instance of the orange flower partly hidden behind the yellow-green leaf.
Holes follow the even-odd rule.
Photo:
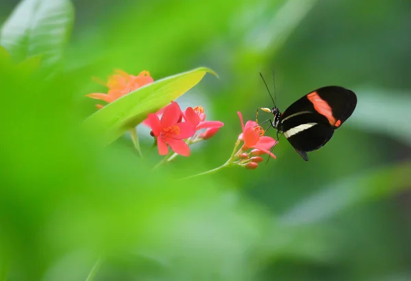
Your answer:
[[[92,93],[86,95],[86,97],[91,97],[92,99],[101,99],[105,102],[113,102],[128,93],[141,88],[147,84],[153,82],[153,78],[150,76],[149,71],[141,71],[137,76],[129,75],[125,71],[116,69],[114,71],[116,74],[108,78],[108,82],[103,82],[104,86],[108,87],[108,93]],[[97,104],[98,109],[103,108],[103,105]]]

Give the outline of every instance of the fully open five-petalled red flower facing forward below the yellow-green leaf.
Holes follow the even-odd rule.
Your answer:
[[[195,134],[195,127],[189,122],[181,122],[182,111],[175,101],[167,106],[161,119],[156,114],[150,113],[146,124],[153,130],[153,136],[157,138],[158,153],[169,153],[169,145],[175,153],[182,156],[190,156],[190,148],[184,142],[184,138],[190,138]]]

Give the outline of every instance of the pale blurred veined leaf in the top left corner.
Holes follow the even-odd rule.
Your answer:
[[[16,62],[42,55],[51,66],[62,58],[74,18],[69,0],[24,0],[1,27],[0,45]]]

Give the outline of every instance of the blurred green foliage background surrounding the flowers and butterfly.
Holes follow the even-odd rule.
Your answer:
[[[0,23],[17,4],[1,1]],[[86,280],[97,260],[101,281],[411,280],[410,1],[73,6],[54,75],[1,67],[0,280]],[[79,129],[102,90],[92,76],[197,66],[219,79],[177,101],[225,126],[189,158],[153,171],[151,138],[141,160],[128,136],[102,149]],[[227,160],[236,112],[272,106],[258,74],[273,87],[272,70],[280,110],[335,84],[356,111],[310,162],[282,138],[254,171],[177,180]]]

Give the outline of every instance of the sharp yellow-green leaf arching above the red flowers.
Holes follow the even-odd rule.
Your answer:
[[[214,71],[200,67],[139,88],[97,110],[84,121],[84,127],[97,134],[103,145],[109,145],[127,130],[141,123],[149,113],[160,110],[186,93],[199,83],[207,72],[216,75]]]

